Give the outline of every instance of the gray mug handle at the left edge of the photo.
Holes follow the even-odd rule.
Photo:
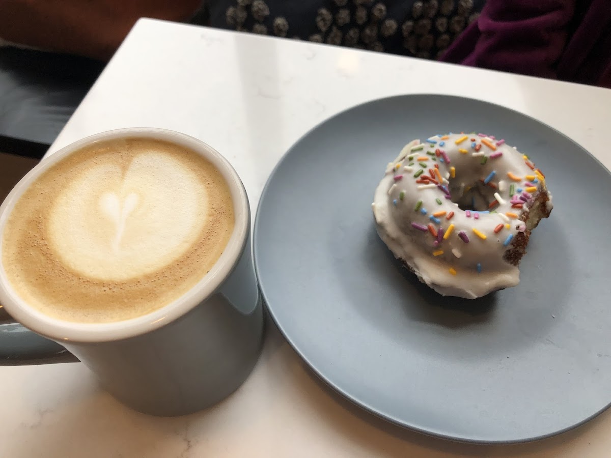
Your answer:
[[[78,362],[75,355],[19,323],[0,324],[0,366]]]

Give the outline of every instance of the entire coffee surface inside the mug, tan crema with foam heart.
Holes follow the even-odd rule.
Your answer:
[[[10,285],[53,318],[115,322],[178,299],[233,233],[227,182],[171,142],[103,140],[38,176],[2,234]]]

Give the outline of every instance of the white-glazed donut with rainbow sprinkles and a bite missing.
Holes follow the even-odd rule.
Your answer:
[[[371,208],[379,237],[421,282],[475,299],[518,285],[552,195],[543,172],[505,140],[450,133],[406,145]]]

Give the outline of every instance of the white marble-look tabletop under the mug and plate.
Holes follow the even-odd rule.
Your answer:
[[[269,172],[302,134],[347,107],[404,93],[511,107],[567,134],[611,168],[611,152],[600,141],[609,133],[611,90],[152,20],[137,23],[49,152],[107,129],[182,131],[232,162],[254,211]],[[405,431],[326,388],[272,324],[246,383],[194,415],[133,412],[80,363],[1,367],[0,392],[0,457],[611,454],[611,412],[522,445],[468,445]]]

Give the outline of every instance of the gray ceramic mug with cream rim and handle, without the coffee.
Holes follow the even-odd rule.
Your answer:
[[[152,415],[185,415],[221,401],[240,387],[257,362],[262,344],[249,202],[237,173],[218,151],[164,129],[119,129],[79,140],[43,159],[2,203],[0,253],[7,217],[32,181],[79,148],[126,136],[183,145],[214,164],[229,184],[235,208],[235,227],[227,247],[210,272],[174,302],[134,319],[100,324],[61,321],[29,307],[10,286],[0,258],[0,304],[20,323],[0,324],[0,365],[78,358],[109,393],[133,409]]]

